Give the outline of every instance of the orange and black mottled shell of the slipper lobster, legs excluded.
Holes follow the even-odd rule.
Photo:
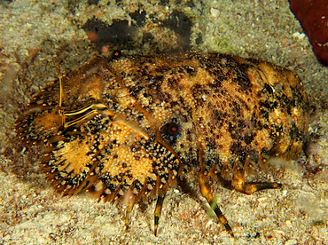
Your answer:
[[[40,91],[20,115],[59,191],[137,200],[176,178],[247,178],[294,159],[308,99],[291,71],[224,54],[98,57]],[[191,174],[192,173],[192,174]]]

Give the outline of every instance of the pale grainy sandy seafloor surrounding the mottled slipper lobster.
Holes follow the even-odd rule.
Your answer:
[[[193,23],[191,51],[230,52],[288,67],[301,76],[316,105],[328,99],[328,68],[316,61],[287,0],[170,1],[167,6],[133,0],[99,1],[100,6],[88,6],[88,1],[8,2],[0,2],[1,152],[12,141],[20,103],[57,77],[59,62],[66,73],[97,52],[76,23],[95,15],[109,23],[113,18],[126,20],[128,12],[139,6],[159,19],[175,9],[185,12]],[[199,33],[202,42],[196,43]],[[247,196],[217,187],[218,203],[235,241],[216,219],[207,217],[203,202],[178,189],[168,192],[157,237],[152,221],[155,202],[143,211],[137,205],[126,232],[120,207],[85,196],[60,197],[42,175],[20,170],[13,174],[17,164],[1,156],[0,243],[328,244],[328,116],[320,107],[317,111],[310,128],[317,131],[310,157],[287,162],[277,170],[275,177],[284,184],[282,189]],[[306,174],[319,165],[321,171]]]

